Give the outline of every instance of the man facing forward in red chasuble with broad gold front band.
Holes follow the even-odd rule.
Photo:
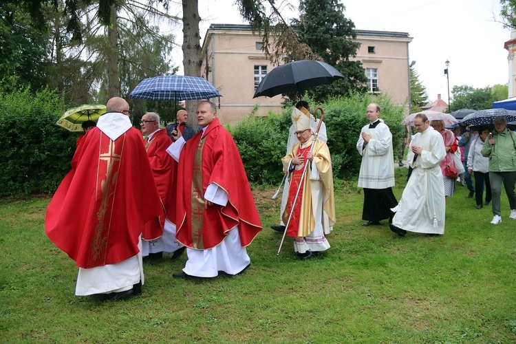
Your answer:
[[[176,238],[188,255],[173,277],[236,275],[250,265],[246,246],[261,222],[235,141],[213,103],[199,104],[197,122],[202,130],[186,142],[174,130],[167,149],[179,161]]]

